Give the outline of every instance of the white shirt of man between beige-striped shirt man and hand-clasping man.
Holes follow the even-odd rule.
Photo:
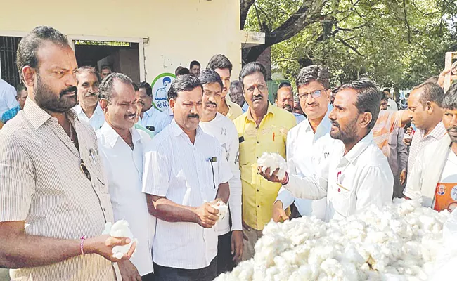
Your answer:
[[[131,233],[138,239],[136,252],[130,261],[141,276],[147,275],[153,272],[151,250],[155,217],[148,212],[146,195],[141,192],[141,178],[144,146],[150,142],[150,137],[143,131],[131,129],[132,150],[108,123],[103,124],[96,134],[115,221],[123,219],[129,223]]]

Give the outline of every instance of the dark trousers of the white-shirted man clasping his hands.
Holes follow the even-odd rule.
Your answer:
[[[155,281],[212,281],[216,277],[216,258],[211,261],[210,266],[199,269],[168,268],[154,263]]]

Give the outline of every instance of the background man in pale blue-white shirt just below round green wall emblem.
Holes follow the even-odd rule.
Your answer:
[[[157,110],[155,106],[153,106],[153,89],[151,88],[150,84],[147,82],[141,82],[138,86],[140,91],[140,98],[141,102],[143,103],[143,109],[140,124],[141,126],[153,131],[155,133],[160,133],[166,126],[172,122],[172,119]]]

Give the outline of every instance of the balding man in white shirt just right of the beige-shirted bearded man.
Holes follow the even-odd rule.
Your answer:
[[[98,148],[108,178],[115,221],[126,220],[138,246],[130,261],[120,263],[123,279],[129,273],[153,280],[152,242],[155,218],[150,216],[146,195],[141,192],[144,146],[147,133],[134,129],[138,98],[133,82],[120,73],[109,74],[100,86],[106,122],[97,133]],[[127,279],[129,280],[129,279]]]

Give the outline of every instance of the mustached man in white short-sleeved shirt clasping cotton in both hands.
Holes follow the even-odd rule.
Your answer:
[[[217,277],[217,201],[228,201],[230,166],[217,138],[203,132],[203,88],[186,74],[168,91],[172,123],[146,148],[143,192],[157,217],[155,280],[214,280]]]

